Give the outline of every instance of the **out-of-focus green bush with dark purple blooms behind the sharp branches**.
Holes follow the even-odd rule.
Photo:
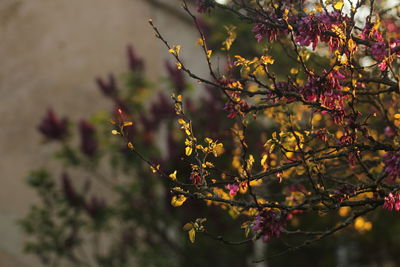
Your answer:
[[[230,13],[214,10],[202,16],[201,22],[209,46],[219,54],[225,70],[233,55],[251,58],[265,49],[275,59],[271,68],[282,75],[278,79],[296,67],[286,44],[258,44],[251,32],[253,25]],[[227,38],[224,26],[229,25],[236,27],[237,39],[227,54],[221,47]],[[310,64],[316,70],[328,63],[324,56],[305,53],[310,53]],[[71,122],[50,109],[39,125],[46,142],[58,143],[54,160],[62,163],[63,171],[40,169],[27,178],[41,202],[34,203],[19,222],[30,237],[26,252],[37,255],[48,266],[65,262],[73,266],[254,266],[253,261],[263,257],[266,261],[258,266],[400,265],[400,220],[396,214],[381,210],[328,239],[279,257],[269,256],[285,249],[289,242],[285,237],[268,244],[227,245],[215,240],[219,235],[230,241],[245,239],[240,229],[243,218],[229,207],[221,212],[219,207],[193,200],[180,208],[172,207],[170,181],[154,175],[138,155],[126,148],[120,136],[112,135],[110,121],[121,119],[117,110],[122,110],[124,119],[134,122],[125,127],[125,134],[135,148],[167,173],[177,170],[180,177],[187,177],[185,182],[190,182],[191,170],[188,164],[182,164],[184,136],[176,123],[170,95],[184,96],[184,107],[199,137],[223,140],[225,155],[233,155],[230,129],[234,125],[223,111],[224,98],[215,88],[188,79],[174,62],[160,62],[168,75],[151,83],[144,74],[144,69],[151,66],[146,66],[132,47],[127,49],[127,61],[126,73],[96,80],[99,90],[113,103],[112,110]],[[195,90],[201,93],[194,96]],[[249,148],[255,156],[261,155],[265,135],[275,130],[262,121],[249,126]],[[219,160],[219,166],[227,169],[232,164],[230,156]],[[215,170],[213,175],[220,174]],[[276,184],[263,186],[271,186],[271,194],[282,190]],[[290,223],[296,225],[301,220],[310,229],[325,229],[346,212],[341,210],[335,218],[321,214],[323,220],[318,225],[313,221],[315,214],[296,217]],[[198,234],[192,244],[182,226],[203,217],[207,218],[207,232]],[[295,245],[294,241],[291,239],[290,245]]]

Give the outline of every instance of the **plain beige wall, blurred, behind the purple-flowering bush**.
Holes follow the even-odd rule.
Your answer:
[[[177,5],[177,0],[164,2]],[[52,106],[72,120],[109,108],[94,78],[126,70],[133,44],[147,73],[162,75],[170,58],[154,38],[153,18],[185,62],[200,74],[192,27],[145,0],[0,1],[0,266],[40,266],[22,253],[16,220],[36,201],[25,185],[29,170],[52,166],[53,146],[41,146],[36,127]]]

